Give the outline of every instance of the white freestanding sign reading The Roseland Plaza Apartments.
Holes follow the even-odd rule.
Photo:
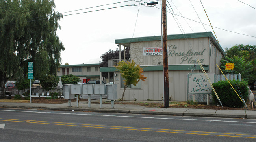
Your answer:
[[[214,83],[214,74],[207,74],[211,83]],[[188,94],[210,94],[211,85],[204,74],[187,74]]]

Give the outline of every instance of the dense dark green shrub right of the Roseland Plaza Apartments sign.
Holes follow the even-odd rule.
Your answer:
[[[243,99],[245,102],[248,98],[248,83],[247,81],[230,81],[232,86],[236,89],[237,87],[239,90],[236,89],[236,92],[239,94],[241,92]],[[215,91],[217,92],[217,95],[219,96],[219,99],[223,106],[228,107],[234,107],[234,108],[241,108],[244,106],[244,103],[241,101],[241,99],[237,96],[236,92],[233,90],[233,88],[230,86],[228,81],[219,81],[217,83],[212,84]],[[213,103],[214,104],[220,104],[219,100],[217,99],[214,92],[211,92],[211,95],[213,96]]]

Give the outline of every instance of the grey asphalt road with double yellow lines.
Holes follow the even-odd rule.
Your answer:
[[[163,142],[256,140],[255,119],[0,108],[0,141]]]

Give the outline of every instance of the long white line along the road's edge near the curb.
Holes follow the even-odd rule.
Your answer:
[[[233,123],[251,123],[251,124],[256,124],[256,122],[227,121],[227,120],[179,119],[179,118],[162,118],[162,117],[139,117],[139,116],[119,116],[119,115],[77,114],[77,113],[59,113],[59,112],[41,112],[41,111],[21,111],[21,110],[0,110],[0,111],[48,113],[48,114],[63,114],[63,115],[88,115],[88,116],[105,116],[105,117],[130,117],[130,118],[146,118],[146,119],[193,120],[193,121],[209,121],[209,122],[233,122]]]

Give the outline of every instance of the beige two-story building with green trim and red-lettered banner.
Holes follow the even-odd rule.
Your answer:
[[[163,57],[161,36],[117,39],[115,43],[130,47],[130,60],[143,68],[147,79],[126,89],[124,100],[162,100],[163,98]],[[197,59],[206,73],[219,74],[216,66],[224,51],[211,32],[175,34],[167,36],[169,66],[169,97],[176,101],[187,101],[188,73],[202,73]],[[115,67],[100,67],[100,72],[115,74],[118,98],[122,98],[124,83]]]

